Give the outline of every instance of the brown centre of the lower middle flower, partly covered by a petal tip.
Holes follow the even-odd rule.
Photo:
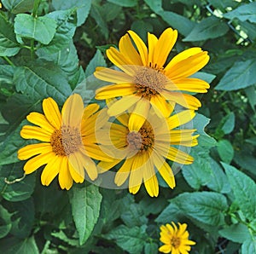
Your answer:
[[[129,132],[126,141],[133,151],[148,151],[154,145],[154,131],[149,124],[144,124],[138,132]]]

